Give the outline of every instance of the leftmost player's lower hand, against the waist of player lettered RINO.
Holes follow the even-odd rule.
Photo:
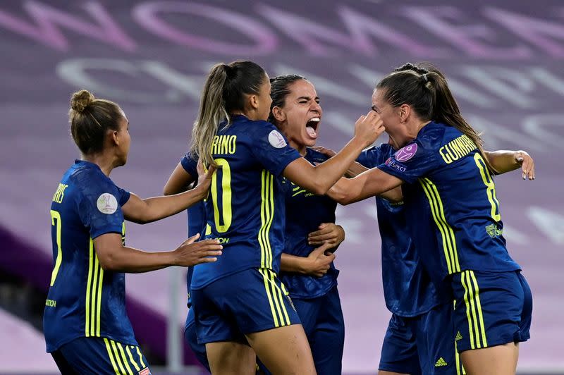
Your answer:
[[[219,245],[219,240],[204,240],[195,242],[200,238],[200,234],[194,235],[185,240],[182,245],[174,250],[176,256],[176,266],[195,266],[200,263],[216,262],[221,255],[223,246]]]

